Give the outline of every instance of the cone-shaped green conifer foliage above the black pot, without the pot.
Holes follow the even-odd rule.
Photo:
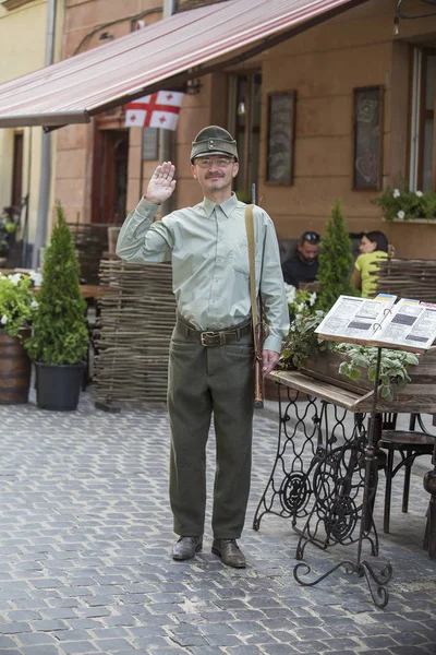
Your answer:
[[[78,364],[84,360],[89,342],[86,302],[80,288],[80,266],[72,235],[60,203],[57,203],[57,217],[45,251],[33,335],[26,340],[25,347],[33,359],[44,364]]]

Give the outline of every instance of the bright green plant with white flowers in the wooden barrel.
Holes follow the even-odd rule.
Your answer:
[[[35,315],[38,303],[32,285],[29,275],[0,273],[0,329],[9,336],[22,336]]]

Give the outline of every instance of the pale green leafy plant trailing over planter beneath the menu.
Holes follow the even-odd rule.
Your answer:
[[[339,366],[340,373],[351,380],[360,380],[362,369],[366,369],[368,380],[375,381],[378,348],[356,344],[338,344],[336,349],[344,353],[348,359]],[[413,353],[384,348],[379,377],[382,397],[391,401],[393,398],[392,384],[403,389],[410,382],[407,367],[415,366],[419,361],[419,357]]]

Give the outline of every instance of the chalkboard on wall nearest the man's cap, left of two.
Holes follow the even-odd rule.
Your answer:
[[[266,181],[292,184],[295,92],[268,94],[268,147]]]

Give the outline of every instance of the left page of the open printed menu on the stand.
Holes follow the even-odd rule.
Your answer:
[[[315,332],[332,341],[342,337],[372,340],[375,326],[389,314],[396,298],[390,294],[379,294],[372,299],[340,296]]]

